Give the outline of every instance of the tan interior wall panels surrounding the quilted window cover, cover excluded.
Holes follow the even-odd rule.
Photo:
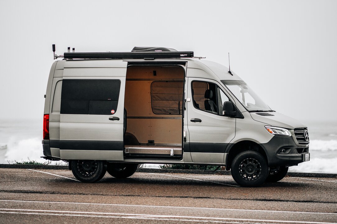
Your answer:
[[[156,76],[153,76],[153,71],[156,71]],[[127,69],[124,102],[128,117],[126,131],[132,133],[140,143],[154,140],[156,145],[182,144],[182,115],[154,114],[150,92],[153,81],[183,81],[184,76],[184,69],[180,66],[130,66]]]

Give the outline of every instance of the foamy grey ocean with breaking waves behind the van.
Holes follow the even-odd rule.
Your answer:
[[[308,125],[310,137],[310,161],[290,167],[289,172],[337,173],[337,121],[304,123]],[[40,158],[43,155],[41,139],[42,120],[0,121],[0,163],[46,162]],[[146,167],[159,168],[151,164]]]

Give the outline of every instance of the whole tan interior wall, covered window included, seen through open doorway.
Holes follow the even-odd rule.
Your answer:
[[[180,66],[130,66],[124,102],[126,132],[141,144],[149,140],[155,145],[182,144],[184,75]]]

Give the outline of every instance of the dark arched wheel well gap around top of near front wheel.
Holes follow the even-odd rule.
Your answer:
[[[233,145],[232,148],[229,150],[229,153],[226,159],[226,170],[231,169],[232,161],[234,160],[237,154],[243,151],[248,151],[248,150],[261,153],[264,156],[264,158],[266,158],[267,163],[268,163],[268,158],[267,158],[267,154],[265,150],[263,150],[263,148],[259,146],[256,142],[246,140],[246,141],[235,143],[235,145]]]

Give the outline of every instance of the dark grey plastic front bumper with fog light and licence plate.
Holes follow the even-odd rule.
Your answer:
[[[308,156],[310,159],[309,146],[299,146],[292,136],[275,135],[269,142],[260,145],[265,149],[270,167],[294,166],[305,162],[306,156],[307,161]]]

